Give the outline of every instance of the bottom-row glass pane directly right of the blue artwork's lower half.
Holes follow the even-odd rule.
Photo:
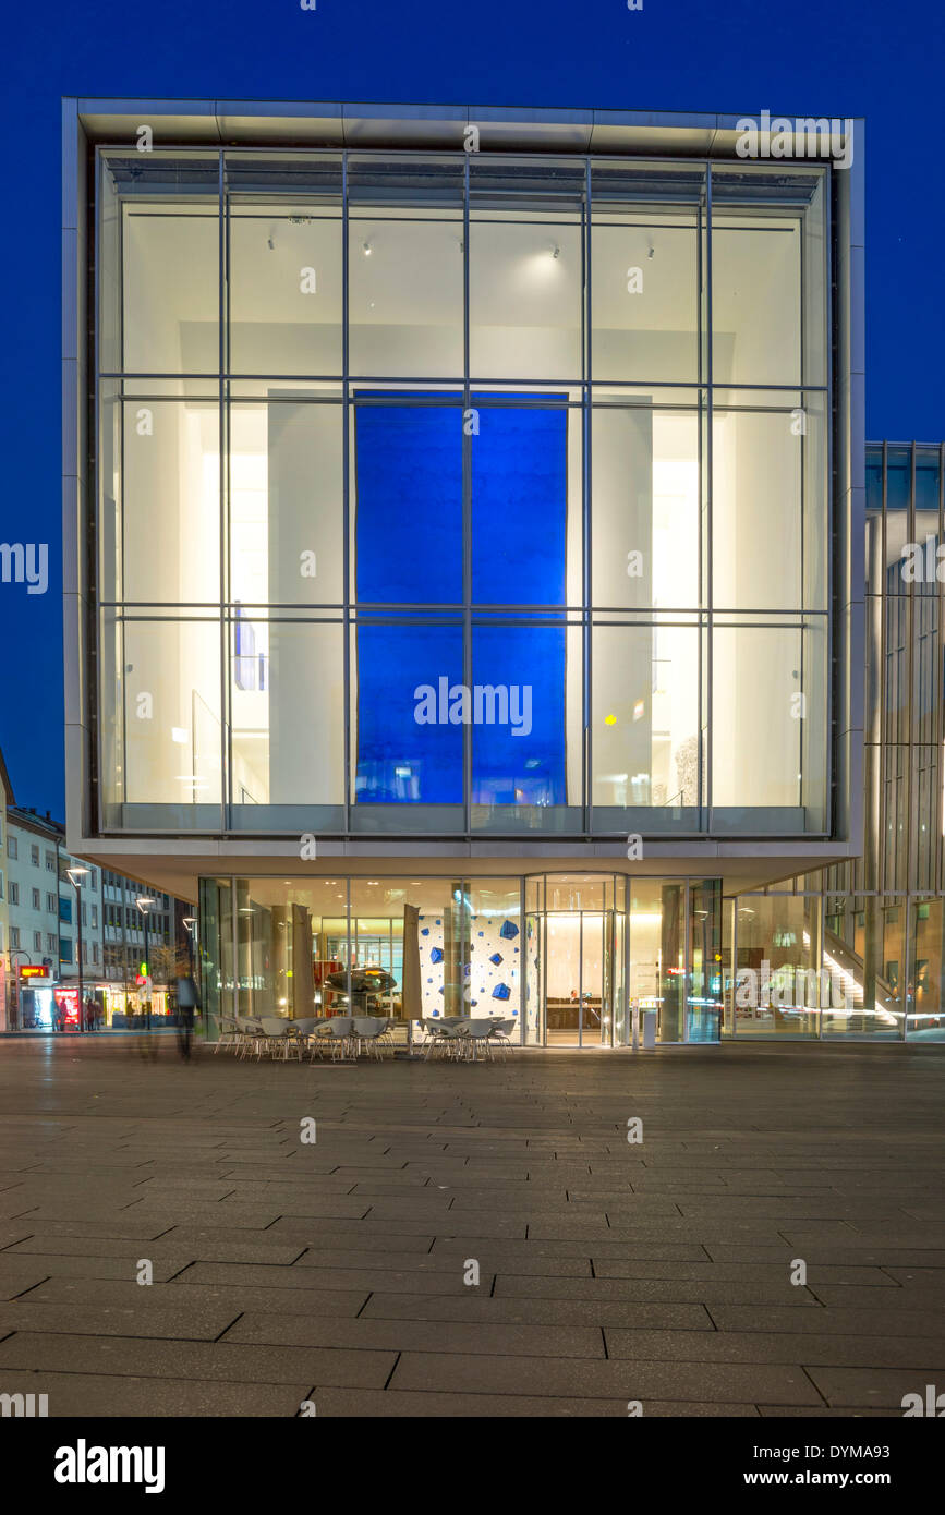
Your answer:
[[[692,829],[698,804],[698,635],[688,626],[592,630],[595,827]],[[689,814],[688,814],[689,812]],[[642,824],[642,823],[641,823]]]

